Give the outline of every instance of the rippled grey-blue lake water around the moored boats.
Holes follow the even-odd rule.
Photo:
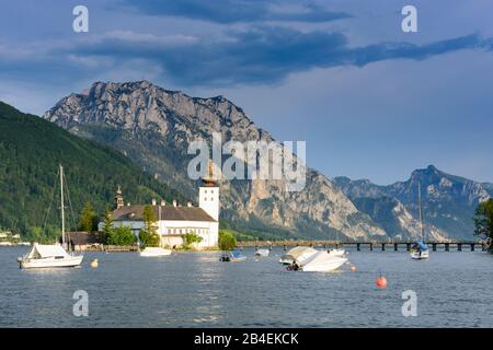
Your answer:
[[[468,247],[422,261],[349,249],[357,270],[333,273],[287,271],[282,248],[257,261],[244,249],[241,262],[85,253],[82,268],[20,270],[27,250],[0,247],[0,327],[493,327],[493,256]],[[76,290],[89,294],[88,317],[72,314]],[[416,317],[402,316],[405,290],[417,293]]]

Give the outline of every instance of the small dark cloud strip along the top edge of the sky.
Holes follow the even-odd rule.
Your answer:
[[[322,23],[348,19],[314,2],[288,0],[122,0],[127,8],[149,15],[180,16],[220,24],[264,21]]]

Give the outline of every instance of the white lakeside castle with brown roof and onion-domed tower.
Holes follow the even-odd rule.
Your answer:
[[[152,200],[154,209],[157,231],[163,246],[180,247],[184,243],[184,235],[195,233],[202,237],[196,244],[197,248],[217,247],[219,236],[219,186],[211,179],[211,167],[209,176],[203,180],[198,189],[198,207],[187,203],[180,206],[176,200],[159,205]],[[118,187],[115,196],[116,209],[112,211],[113,226],[127,226],[138,237],[140,230],[145,229],[144,208],[145,205],[124,205],[122,189]],[[104,222],[100,222],[99,230],[102,231]]]

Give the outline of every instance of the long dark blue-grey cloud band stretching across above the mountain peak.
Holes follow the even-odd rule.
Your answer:
[[[128,62],[145,61],[161,72],[163,80],[181,86],[271,84],[314,68],[423,60],[461,49],[491,49],[491,38],[471,34],[424,45],[402,42],[351,47],[347,37],[339,32],[267,25],[230,31],[226,37],[108,32],[73,44],[51,44],[39,55],[16,60],[5,58],[9,49],[3,46],[0,77],[87,79],[117,71],[118,67],[126,69],[131,66]],[[22,51],[22,47],[13,50]]]

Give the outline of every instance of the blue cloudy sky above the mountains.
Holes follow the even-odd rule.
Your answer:
[[[89,8],[90,32],[72,31]],[[417,33],[401,9],[417,8]],[[493,182],[493,2],[3,2],[0,100],[42,114],[94,81],[225,95],[329,177]]]

